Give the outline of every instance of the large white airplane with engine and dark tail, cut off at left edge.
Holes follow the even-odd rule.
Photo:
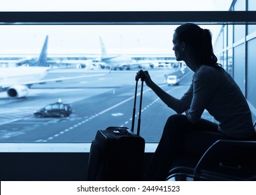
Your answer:
[[[33,84],[44,84],[52,81],[64,81],[69,79],[79,79],[84,77],[98,77],[106,75],[82,75],[77,77],[64,77],[56,79],[43,79],[48,74],[47,63],[48,36],[45,38],[43,48],[38,60],[29,66],[16,66],[10,68],[0,68],[0,92],[6,91],[9,98],[24,98],[29,94],[29,88]],[[108,74],[108,73],[107,73]]]

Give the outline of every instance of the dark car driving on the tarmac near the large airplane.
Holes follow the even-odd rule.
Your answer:
[[[72,113],[70,104],[58,101],[34,112],[36,117],[66,117]]]

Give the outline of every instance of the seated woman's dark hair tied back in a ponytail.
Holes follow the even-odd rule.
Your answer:
[[[201,29],[197,24],[186,23],[175,30],[179,41],[189,45],[200,64],[221,68],[218,59],[213,53],[212,35],[208,29]]]

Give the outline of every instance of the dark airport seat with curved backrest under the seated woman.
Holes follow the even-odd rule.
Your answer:
[[[256,141],[218,140],[195,166],[173,166],[166,180],[256,180]]]

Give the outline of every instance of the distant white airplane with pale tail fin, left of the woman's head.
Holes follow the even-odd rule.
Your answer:
[[[110,56],[106,52],[106,47],[101,37],[99,37],[99,41],[101,45],[101,61],[110,65],[112,70],[124,70],[133,63],[131,56],[128,55]]]

